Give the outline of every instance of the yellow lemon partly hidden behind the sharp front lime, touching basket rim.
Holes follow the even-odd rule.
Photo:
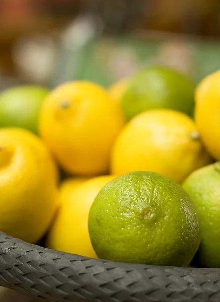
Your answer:
[[[60,209],[48,233],[47,247],[97,258],[88,234],[88,213],[100,189],[114,176],[92,178],[78,188],[70,182],[60,189]]]

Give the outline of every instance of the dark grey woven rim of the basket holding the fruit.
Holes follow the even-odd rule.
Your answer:
[[[219,302],[220,270],[61,253],[0,232],[0,285],[63,302]]]

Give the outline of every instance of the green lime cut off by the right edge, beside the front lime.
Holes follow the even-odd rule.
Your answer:
[[[194,171],[183,183],[200,218],[199,266],[220,267],[220,163]]]

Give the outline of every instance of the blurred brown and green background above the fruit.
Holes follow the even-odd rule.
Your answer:
[[[218,0],[0,0],[0,89],[108,86],[152,62],[198,82],[220,68],[219,35]]]

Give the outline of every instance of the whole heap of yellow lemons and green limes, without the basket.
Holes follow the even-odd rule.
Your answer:
[[[219,80],[149,66],[108,90],[2,92],[0,230],[88,257],[220,267]]]

